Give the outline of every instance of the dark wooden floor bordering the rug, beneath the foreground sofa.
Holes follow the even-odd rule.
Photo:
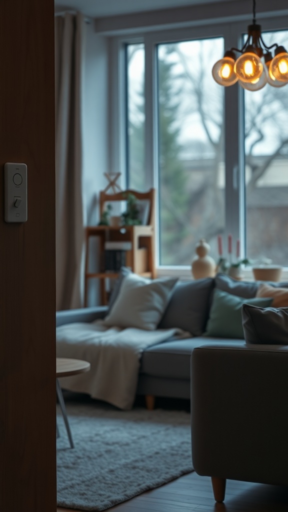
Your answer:
[[[210,478],[195,472],[108,509],[109,512],[287,512],[288,487],[228,480],[224,503],[215,503]],[[57,508],[57,512],[77,512]]]

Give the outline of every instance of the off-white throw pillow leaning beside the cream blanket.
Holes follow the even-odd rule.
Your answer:
[[[177,280],[150,280],[134,273],[126,275],[116,301],[104,319],[105,325],[153,331],[162,318]]]

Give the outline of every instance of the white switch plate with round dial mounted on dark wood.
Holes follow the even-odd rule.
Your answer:
[[[5,222],[27,221],[27,165],[4,165]]]

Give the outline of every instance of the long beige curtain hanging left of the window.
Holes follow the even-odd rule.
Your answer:
[[[83,305],[83,15],[55,17],[56,308]]]

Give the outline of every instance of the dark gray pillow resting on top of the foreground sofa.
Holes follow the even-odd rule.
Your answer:
[[[288,308],[259,308],[243,304],[245,342],[288,345]]]

